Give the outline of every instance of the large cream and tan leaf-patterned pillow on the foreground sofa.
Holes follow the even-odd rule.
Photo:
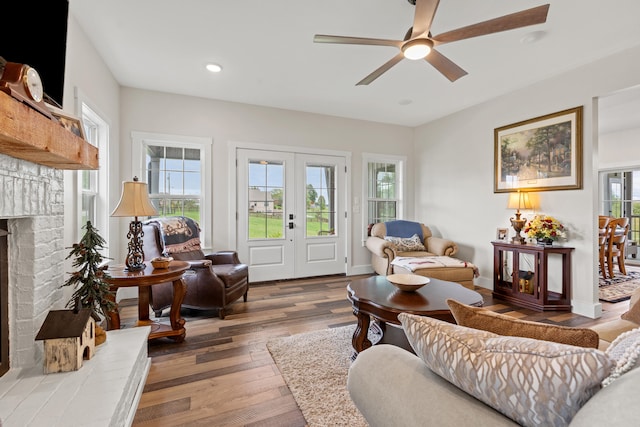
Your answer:
[[[569,424],[615,366],[592,348],[500,336],[409,313],[398,319],[433,372],[524,426]]]

